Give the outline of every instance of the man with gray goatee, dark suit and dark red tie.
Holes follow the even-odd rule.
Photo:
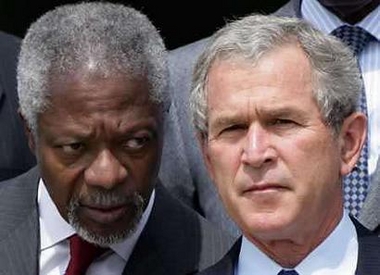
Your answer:
[[[139,11],[57,7],[17,68],[37,167],[1,183],[0,273],[190,274],[228,239],[161,185],[166,50]]]

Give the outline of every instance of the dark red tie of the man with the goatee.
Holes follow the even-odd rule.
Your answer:
[[[86,242],[78,235],[71,236],[70,262],[65,275],[84,275],[94,259],[105,250],[105,248]]]

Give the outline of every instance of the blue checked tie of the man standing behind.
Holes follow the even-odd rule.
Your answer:
[[[340,38],[346,45],[348,45],[356,56],[359,56],[371,39],[374,39],[370,33],[357,26],[340,26],[331,34]],[[364,88],[360,95],[358,109],[367,115],[367,101]],[[343,181],[344,207],[356,217],[358,216],[366,198],[369,184],[367,142],[366,139],[355,168],[344,178]]]

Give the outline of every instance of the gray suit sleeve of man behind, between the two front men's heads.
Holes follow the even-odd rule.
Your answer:
[[[234,237],[240,231],[228,217],[203,162],[192,126],[189,93],[192,70],[207,39],[169,54],[171,106],[165,120],[160,178],[169,191]]]

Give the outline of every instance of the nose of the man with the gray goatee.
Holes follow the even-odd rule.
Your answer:
[[[125,181],[127,169],[108,149],[103,149],[95,157],[84,173],[88,185],[112,189]]]

